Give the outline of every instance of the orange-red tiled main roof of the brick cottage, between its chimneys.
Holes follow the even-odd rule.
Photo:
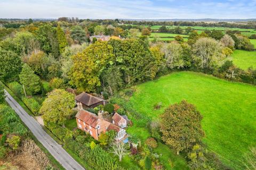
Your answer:
[[[98,116],[85,110],[78,111],[76,117],[93,128],[96,128],[98,124]]]

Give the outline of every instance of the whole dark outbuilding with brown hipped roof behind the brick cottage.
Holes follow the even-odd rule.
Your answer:
[[[107,101],[96,96],[92,96],[90,94],[87,94],[86,92],[82,92],[82,94],[79,94],[75,98],[76,103],[81,103],[83,108],[94,108],[99,105],[106,105]]]

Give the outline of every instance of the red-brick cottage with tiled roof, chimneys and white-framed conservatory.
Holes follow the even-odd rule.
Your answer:
[[[98,116],[85,111],[82,109],[81,104],[78,104],[79,111],[76,114],[76,123],[79,129],[90,133],[90,135],[95,139],[99,139],[101,133],[105,133],[110,130],[117,132],[116,140],[124,139],[126,132],[124,129],[119,128],[117,125],[106,121],[103,118],[103,113],[99,112]]]

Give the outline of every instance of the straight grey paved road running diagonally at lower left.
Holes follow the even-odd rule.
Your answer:
[[[66,150],[64,150],[57,142],[55,142],[49,134],[47,134],[42,126],[30,116],[12,96],[5,91],[5,100],[20,116],[21,120],[28,126],[30,131],[35,135],[37,140],[52,154],[52,156],[67,170],[81,169],[85,170],[73,159]]]

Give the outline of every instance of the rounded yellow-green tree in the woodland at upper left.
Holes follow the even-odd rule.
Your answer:
[[[13,38],[13,43],[15,45],[14,52],[21,56],[29,55],[40,48],[40,44],[33,33],[27,31],[17,32]]]

